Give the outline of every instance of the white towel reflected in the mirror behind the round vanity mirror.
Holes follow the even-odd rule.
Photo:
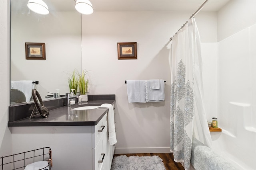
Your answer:
[[[11,88],[22,91],[26,96],[26,102],[29,102],[35,85],[32,80],[11,81]]]

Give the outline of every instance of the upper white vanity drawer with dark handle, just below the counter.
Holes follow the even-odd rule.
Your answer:
[[[107,129],[107,114],[105,114],[97,125],[92,126],[92,148],[97,146],[100,138],[106,133]]]

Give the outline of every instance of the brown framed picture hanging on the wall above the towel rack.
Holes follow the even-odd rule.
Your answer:
[[[117,43],[118,60],[137,59],[137,43]]]

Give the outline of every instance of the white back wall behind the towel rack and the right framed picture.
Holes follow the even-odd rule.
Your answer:
[[[82,69],[90,70],[89,94],[116,94],[116,153],[170,152],[169,38],[190,15],[94,12],[82,16]],[[204,46],[211,48],[208,42],[216,42],[217,37],[216,13],[198,14],[196,21]],[[137,42],[138,59],[118,60],[118,42]],[[206,56],[208,66],[215,62],[213,55]],[[124,81],[132,79],[166,80],[165,102],[129,104]]]

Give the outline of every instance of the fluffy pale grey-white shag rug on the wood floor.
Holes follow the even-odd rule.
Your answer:
[[[166,170],[159,156],[116,156],[111,170]]]

